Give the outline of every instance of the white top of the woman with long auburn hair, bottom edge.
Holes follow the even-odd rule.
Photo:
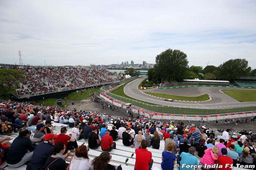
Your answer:
[[[91,164],[91,160],[82,158],[82,157],[74,157],[70,162],[70,170],[93,170],[93,165]]]

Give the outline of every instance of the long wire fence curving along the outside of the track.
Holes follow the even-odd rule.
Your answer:
[[[216,107],[152,105],[149,103],[133,100],[131,98],[127,98],[127,97],[123,97],[123,96],[111,93],[111,91],[115,90],[112,88],[123,85],[124,83],[125,81],[121,81],[108,86],[104,86],[101,88],[101,93],[105,92],[105,95],[108,95],[109,97],[115,100],[119,100],[124,103],[131,103],[133,106],[137,106],[139,108],[148,110],[150,112],[166,113],[166,114],[174,114],[174,115],[198,115],[198,116],[218,115],[218,114],[232,115],[238,112],[250,112],[250,111],[256,110],[256,104],[216,106]]]

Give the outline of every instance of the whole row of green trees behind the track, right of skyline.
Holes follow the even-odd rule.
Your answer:
[[[188,65],[187,55],[178,49],[167,49],[155,57],[155,66],[148,70],[148,79],[154,83],[183,81],[183,79],[223,80],[234,82],[238,76],[256,76],[256,69],[248,61],[237,58],[216,66]]]

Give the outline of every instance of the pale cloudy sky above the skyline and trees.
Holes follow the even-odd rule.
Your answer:
[[[0,63],[155,63],[180,49],[189,65],[245,58],[256,69],[255,0],[1,0]]]

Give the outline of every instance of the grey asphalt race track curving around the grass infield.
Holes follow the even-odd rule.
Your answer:
[[[255,101],[251,102],[239,102],[232,97],[221,92],[221,89],[239,89],[239,90],[256,90],[256,89],[243,89],[243,88],[223,88],[223,87],[186,87],[186,88],[173,88],[173,89],[147,89],[143,92],[159,92],[166,94],[174,94],[181,96],[199,96],[207,93],[212,100],[210,101],[164,101],[162,98],[153,97],[147,94],[143,94],[138,89],[138,85],[145,78],[139,78],[130,82],[124,88],[124,93],[137,100],[146,101],[149,103],[168,105],[168,106],[187,106],[187,107],[205,107],[206,109],[212,109],[212,107],[219,106],[235,106],[235,105],[247,105],[256,104]]]

